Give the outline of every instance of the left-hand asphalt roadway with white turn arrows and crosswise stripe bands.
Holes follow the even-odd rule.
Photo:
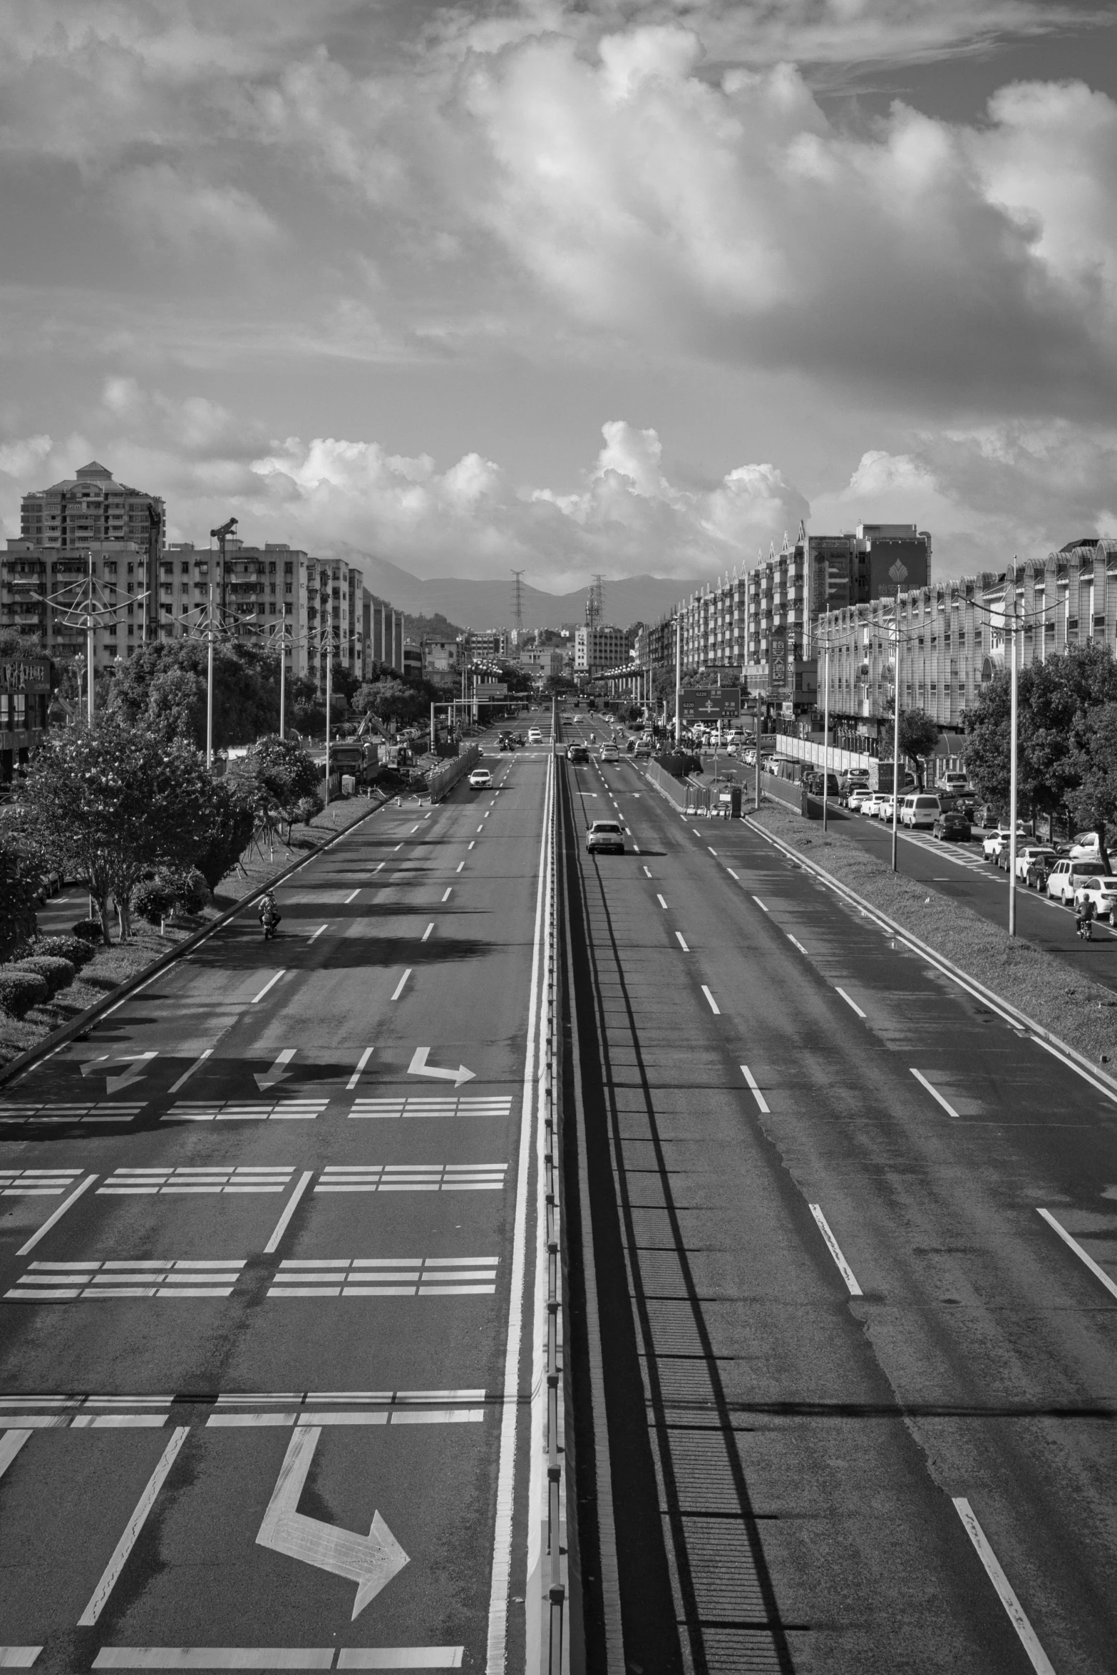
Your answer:
[[[548,752],[494,774],[0,1094],[0,1665],[522,1667]]]

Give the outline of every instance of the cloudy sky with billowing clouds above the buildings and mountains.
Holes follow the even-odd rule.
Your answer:
[[[1110,0],[0,0],[0,516],[561,590],[1117,534]]]

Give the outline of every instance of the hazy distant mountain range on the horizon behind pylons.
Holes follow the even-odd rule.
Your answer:
[[[462,628],[512,626],[512,576],[507,581],[467,581],[459,576],[412,576],[399,564],[368,553],[350,551],[348,561],[360,564],[370,593],[389,600],[397,610],[434,616],[440,611]],[[625,576],[605,583],[605,621],[626,628],[635,621],[658,621],[675,605],[693,593],[695,581],[670,581],[665,576]],[[524,583],[524,628],[558,628],[586,618],[586,593],[544,593]]]

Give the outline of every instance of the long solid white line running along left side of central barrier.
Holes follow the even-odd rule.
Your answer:
[[[512,1499],[516,1487],[516,1424],[519,1419],[519,1353],[524,1333],[524,1261],[528,1246],[528,1166],[531,1162],[531,1129],[534,1119],[536,1035],[539,1028],[539,978],[543,966],[546,859],[551,832],[551,797],[554,796],[554,757],[546,769],[543,794],[543,832],[539,834],[539,883],[536,886],[536,928],[531,951],[531,988],[528,993],[528,1042],[524,1050],[524,1090],[519,1119],[519,1157],[516,1166],[516,1219],[512,1226],[511,1298],[507,1347],[504,1353],[504,1405],[501,1410],[501,1452],[496,1482],[496,1531],[492,1541],[492,1583],[489,1591],[487,1675],[504,1675],[507,1655],[507,1605],[512,1576]]]

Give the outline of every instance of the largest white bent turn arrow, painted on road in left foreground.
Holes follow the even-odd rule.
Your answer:
[[[318,1569],[355,1581],[355,1618],[410,1559],[378,1513],[373,1514],[368,1534],[358,1536],[352,1529],[337,1529],[320,1518],[295,1511],[320,1435],[322,1425],[306,1425],[291,1437],[256,1541],[290,1559],[301,1559],[303,1564],[317,1564]]]

